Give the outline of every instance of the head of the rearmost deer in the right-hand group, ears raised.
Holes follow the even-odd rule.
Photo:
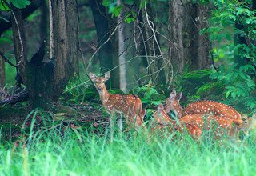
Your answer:
[[[182,92],[179,92],[178,94],[176,94],[176,91],[173,90],[170,93],[170,97],[167,98],[166,100],[166,113],[169,113],[170,111],[174,111],[174,113],[176,114],[176,116],[178,116],[179,112],[178,110],[182,110],[182,107],[179,104],[179,100],[182,98]],[[178,117],[180,118],[180,117]]]

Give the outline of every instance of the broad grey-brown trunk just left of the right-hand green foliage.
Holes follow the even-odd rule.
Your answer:
[[[174,73],[202,70],[210,67],[210,42],[206,34],[199,31],[206,27],[208,6],[192,3],[190,0],[170,0],[169,8],[169,54]]]

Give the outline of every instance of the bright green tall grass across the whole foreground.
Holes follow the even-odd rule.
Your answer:
[[[36,124],[35,120],[31,124]],[[132,134],[116,134],[114,142],[110,142],[105,132],[98,135],[82,128],[31,127],[19,143],[0,144],[0,175],[256,173],[256,147],[252,138],[245,138],[242,143],[195,142],[191,138],[148,141],[140,135],[134,138]]]

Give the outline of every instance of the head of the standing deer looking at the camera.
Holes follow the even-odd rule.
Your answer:
[[[102,90],[106,89],[105,82],[110,78],[109,71],[106,72],[104,77],[96,77],[96,75],[92,73],[90,73],[89,76],[91,81],[94,82],[94,86],[96,87],[99,93],[102,92]]]

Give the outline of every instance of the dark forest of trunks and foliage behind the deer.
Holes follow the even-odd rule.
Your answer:
[[[87,75],[110,70],[109,90],[138,94],[153,109],[178,90],[183,105],[210,99],[253,113],[255,6],[254,0],[1,0],[2,110],[96,100]]]

